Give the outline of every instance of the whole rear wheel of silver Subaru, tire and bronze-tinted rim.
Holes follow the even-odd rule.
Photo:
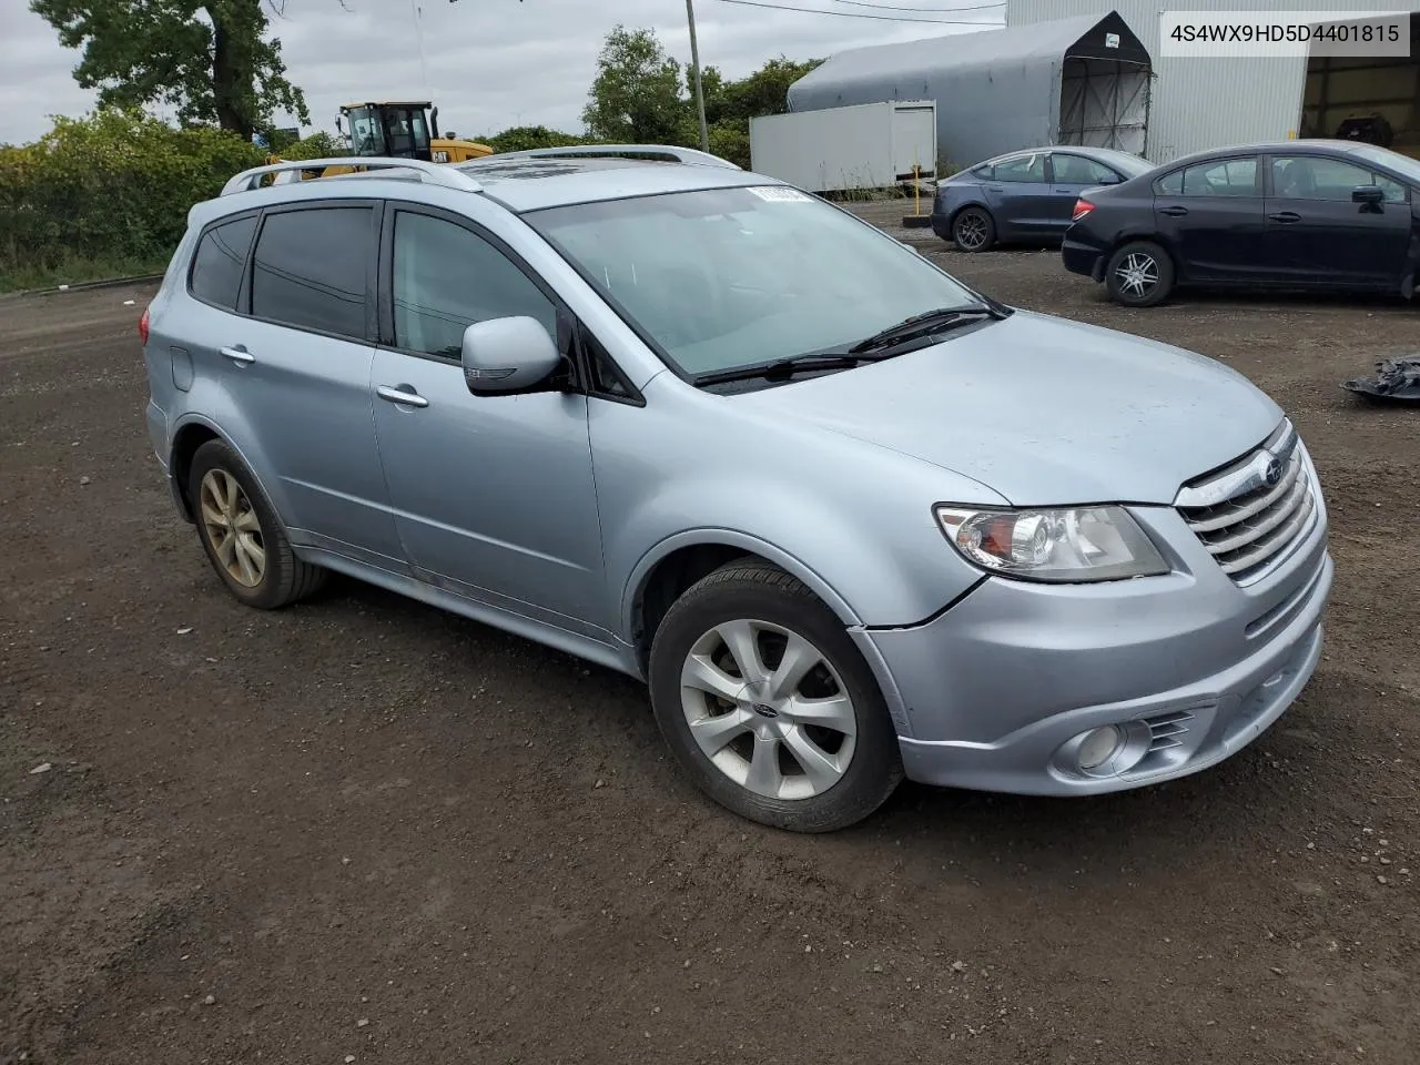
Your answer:
[[[295,557],[256,477],[224,442],[197,449],[187,491],[207,561],[240,602],[277,609],[325,584],[328,571]]]

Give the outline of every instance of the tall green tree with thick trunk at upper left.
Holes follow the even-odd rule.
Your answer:
[[[101,106],[166,104],[183,124],[244,139],[277,109],[311,121],[261,0],[30,0],[30,10],[82,50],[74,78],[99,91]]]

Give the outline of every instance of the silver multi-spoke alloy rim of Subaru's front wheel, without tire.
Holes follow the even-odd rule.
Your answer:
[[[706,758],[764,798],[822,795],[853,758],[848,686],[818,648],[780,625],[730,621],[701,635],[680,670],[680,704]]]

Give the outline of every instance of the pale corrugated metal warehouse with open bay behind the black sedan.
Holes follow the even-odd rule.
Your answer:
[[[1160,54],[1163,11],[1420,11],[1420,0],[1115,0],[1153,60],[1145,155],[1167,162],[1217,145],[1331,136],[1349,116],[1380,114],[1393,149],[1420,155],[1420,18],[1411,16],[1410,58],[1176,57]],[[1007,26],[1100,14],[1099,0],[1010,0]],[[973,34],[974,36],[974,34]],[[1020,145],[1034,148],[1035,145]]]

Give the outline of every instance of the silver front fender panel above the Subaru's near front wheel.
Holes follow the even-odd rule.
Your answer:
[[[846,626],[910,625],[978,579],[932,507],[1001,506],[997,493],[886,447],[687,392],[653,382],[645,408],[592,413],[609,613],[628,643],[646,575],[690,545],[768,558]]]

